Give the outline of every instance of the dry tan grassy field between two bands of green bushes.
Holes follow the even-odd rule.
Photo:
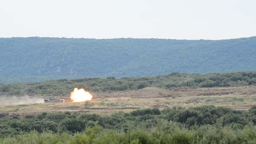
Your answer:
[[[118,111],[130,112],[140,108],[172,108],[214,105],[248,110],[256,105],[256,86],[229,88],[179,88],[92,92],[90,102],[0,105],[0,113],[8,115],[38,114],[41,112],[70,111],[110,115]]]

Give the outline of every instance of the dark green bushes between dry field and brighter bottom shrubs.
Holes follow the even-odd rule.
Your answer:
[[[172,140],[174,143],[191,143],[190,137],[192,136],[190,133],[192,134],[192,132],[200,133],[202,131],[201,135],[206,136],[203,131],[210,130],[210,128],[218,128],[220,130],[225,128],[224,130],[227,132],[236,132],[244,130],[248,126],[254,127],[255,124],[256,106],[252,106],[248,111],[215,106],[174,107],[162,111],[158,108],[147,108],[134,110],[130,113],[118,112],[111,116],[70,112],[43,112],[37,116],[3,116],[0,118],[0,138],[27,134],[32,131],[41,134],[51,132],[52,134],[74,135],[77,132],[82,134],[92,127],[99,127],[103,132],[112,130],[109,134],[117,133],[117,135],[122,135],[124,139],[127,137],[126,134],[131,134],[129,138],[132,137],[134,142],[150,143],[152,138],[153,142],[155,142],[154,137],[151,135],[153,134],[152,132],[158,130],[158,132],[154,133],[157,138],[167,136],[168,138],[166,137],[165,140]],[[184,133],[178,133],[180,130]],[[174,134],[173,131],[176,133]],[[186,133],[187,131],[189,132]],[[163,136],[157,135],[158,133]],[[167,135],[168,133],[170,135]],[[197,136],[199,136],[200,140],[203,138],[203,136]],[[214,136],[208,134],[208,137],[213,139]],[[218,138],[222,139],[222,137]]]

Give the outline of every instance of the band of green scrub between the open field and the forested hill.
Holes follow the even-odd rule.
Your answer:
[[[0,95],[66,96],[75,87],[91,92],[137,90],[145,87],[174,89],[178,87],[226,87],[256,85],[256,72],[180,74],[141,78],[82,78],[36,83],[0,84]],[[242,101],[242,100],[240,100]]]

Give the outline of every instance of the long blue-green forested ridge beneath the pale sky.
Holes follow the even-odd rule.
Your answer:
[[[256,70],[256,37],[231,40],[0,38],[0,52],[0,83],[41,81],[44,77],[120,78],[171,72]]]

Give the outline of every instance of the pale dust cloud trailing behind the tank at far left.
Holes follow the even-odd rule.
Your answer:
[[[41,104],[44,103],[43,98],[34,98],[30,96],[3,96],[0,97],[0,105],[15,105],[15,104]]]

